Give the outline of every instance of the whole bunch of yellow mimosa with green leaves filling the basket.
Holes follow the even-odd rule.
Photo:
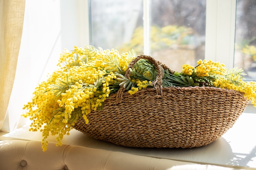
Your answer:
[[[133,96],[143,89],[159,86],[159,82],[160,91],[167,87],[213,87],[237,91],[246,100],[255,102],[256,84],[243,81],[242,69],[228,70],[219,62],[199,60],[196,66],[184,64],[182,72],[175,72],[160,62],[147,60],[149,57],[136,58],[135,51],[120,54],[115,49],[103,50],[94,46],[75,46],[72,51],[65,49],[59,59],[59,69],[36,87],[31,102],[24,106],[27,113],[23,116],[31,119],[29,130],[40,130],[43,134],[43,150],[47,149],[49,135],[56,135],[58,146],[79,120],[90,124],[90,114],[97,110],[101,114],[100,110],[107,107],[104,106],[106,100],[115,103],[116,98],[111,96],[120,88],[122,93]],[[134,60],[136,63],[133,62],[131,67]],[[161,92],[157,96],[163,97]]]

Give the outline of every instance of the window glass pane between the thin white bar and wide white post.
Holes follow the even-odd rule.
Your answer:
[[[151,0],[151,52],[173,71],[204,59],[206,0]]]

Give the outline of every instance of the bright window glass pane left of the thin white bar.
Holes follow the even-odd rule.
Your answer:
[[[132,40],[134,34],[139,34],[134,42],[143,48],[142,0],[91,0],[91,44],[103,49],[117,49],[128,52],[132,48],[125,43]],[[137,48],[134,50],[139,54]]]

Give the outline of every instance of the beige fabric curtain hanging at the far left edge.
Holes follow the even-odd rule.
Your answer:
[[[0,0],[0,129],[15,78],[25,12],[25,0]]]

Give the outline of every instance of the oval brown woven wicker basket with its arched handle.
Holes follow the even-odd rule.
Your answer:
[[[210,144],[233,126],[248,100],[243,93],[214,87],[162,88],[160,62],[141,58],[157,68],[155,88],[130,95],[124,88],[110,95],[101,111],[92,111],[86,125],[74,126],[91,137],[128,147],[193,148]],[[163,64],[161,66],[166,69]],[[173,73],[173,72],[172,72]]]

